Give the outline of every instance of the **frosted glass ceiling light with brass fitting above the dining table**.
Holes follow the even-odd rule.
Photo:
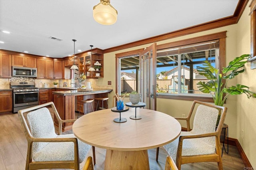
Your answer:
[[[100,0],[100,3],[93,7],[93,18],[102,25],[112,25],[117,20],[117,10],[110,5],[110,0]]]

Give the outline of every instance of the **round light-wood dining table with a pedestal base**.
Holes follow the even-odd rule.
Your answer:
[[[142,119],[130,119],[135,109],[121,113],[124,123],[114,122],[119,113],[111,109],[95,111],[73,124],[73,133],[81,141],[106,149],[105,170],[149,170],[148,149],[175,140],[180,123],[165,113],[137,108]]]

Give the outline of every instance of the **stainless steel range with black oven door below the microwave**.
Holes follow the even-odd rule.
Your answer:
[[[10,88],[13,89],[13,113],[38,105],[39,89],[35,82],[11,81]]]

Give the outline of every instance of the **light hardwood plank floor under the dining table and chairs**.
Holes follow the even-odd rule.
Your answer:
[[[66,133],[72,133],[69,130]],[[104,169],[104,160],[106,150],[96,148],[96,165],[95,170]],[[0,170],[24,170],[26,164],[27,140],[18,114],[0,115]],[[156,162],[156,149],[148,150],[149,163],[151,170],[164,170],[166,156],[168,155],[164,148],[160,147],[158,162]],[[92,156],[92,149],[87,156]],[[222,156],[224,170],[243,170],[244,164],[234,146],[229,146],[229,153],[223,153]],[[85,162],[85,161],[84,161]],[[83,168],[84,162],[80,164]],[[216,162],[200,162],[184,164],[182,170],[217,170]]]

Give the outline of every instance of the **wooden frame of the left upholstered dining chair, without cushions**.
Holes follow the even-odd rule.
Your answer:
[[[69,168],[79,170],[79,154],[78,154],[78,140],[77,138],[34,138],[30,132],[30,128],[26,123],[26,119],[24,117],[24,113],[30,112],[36,109],[40,109],[42,107],[51,106],[56,119],[58,120],[58,135],[62,132],[62,123],[69,123],[74,122],[76,119],[69,119],[69,120],[62,120],[54,106],[53,102],[45,103],[42,105],[30,107],[27,109],[22,109],[18,111],[18,116],[21,121],[22,128],[24,129],[27,141],[28,141],[28,152],[26,158],[26,170],[35,170],[35,169],[53,169],[53,168]],[[74,142],[74,160],[68,161],[42,161],[42,162],[32,162],[32,149],[33,149],[33,142]],[[93,155],[95,158],[95,149],[93,147]]]

